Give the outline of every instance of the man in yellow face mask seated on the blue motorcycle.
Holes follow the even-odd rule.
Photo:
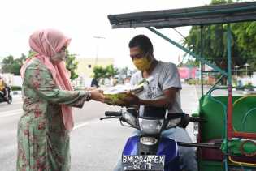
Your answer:
[[[137,96],[129,96],[124,101],[128,105],[151,105],[167,107],[168,113],[183,113],[180,107],[180,76],[175,64],[161,62],[154,58],[153,45],[144,35],[138,35],[129,42],[130,57],[139,71],[132,75],[131,84],[136,85],[143,79],[153,78],[145,91]],[[159,116],[156,116],[159,117]],[[163,136],[180,142],[191,143],[191,139],[184,128],[176,127],[163,131]],[[182,170],[196,171],[197,161],[192,147],[179,147],[180,167]],[[115,170],[120,169],[120,161]]]

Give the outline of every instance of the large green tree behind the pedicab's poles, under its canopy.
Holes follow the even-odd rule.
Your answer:
[[[232,0],[228,0],[228,3]],[[227,3],[225,0],[213,0],[211,4]],[[232,65],[243,66],[245,58],[253,57],[255,53],[256,24],[237,23],[231,24],[232,28]],[[184,45],[193,53],[201,53],[200,26],[193,26],[189,36],[184,40]],[[202,29],[203,57],[210,58],[217,66],[227,68],[227,24],[206,25]],[[246,48],[245,48],[246,46]]]

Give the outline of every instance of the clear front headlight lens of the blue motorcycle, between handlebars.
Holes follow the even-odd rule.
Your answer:
[[[160,132],[163,126],[163,119],[145,119],[139,118],[139,125],[141,132],[148,135],[155,135]]]

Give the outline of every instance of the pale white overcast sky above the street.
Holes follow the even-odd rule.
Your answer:
[[[204,6],[210,0],[8,0],[0,2],[0,57],[20,58],[29,50],[28,37],[38,29],[54,28],[72,38],[68,47],[77,58],[114,58],[116,67],[134,69],[128,42],[137,34],[150,37],[154,57],[178,64],[184,52],[146,28],[112,29],[107,15]],[[176,28],[184,36],[190,27]],[[165,35],[180,42],[172,29]],[[102,38],[95,38],[102,37]]]

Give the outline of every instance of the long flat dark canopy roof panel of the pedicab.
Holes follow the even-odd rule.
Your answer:
[[[108,19],[112,28],[174,28],[189,25],[228,24],[254,21],[256,2],[108,15]]]

